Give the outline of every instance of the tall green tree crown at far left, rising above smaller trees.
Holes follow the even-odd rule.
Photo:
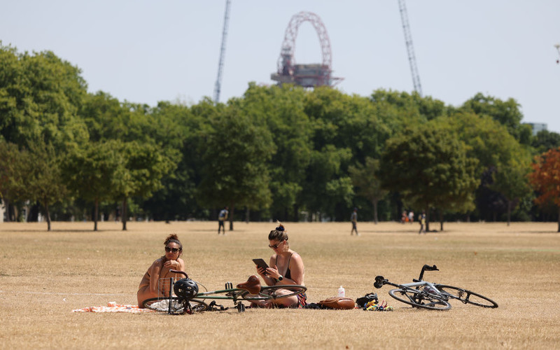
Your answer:
[[[38,140],[58,151],[87,139],[77,118],[87,85],[80,69],[50,51],[19,54],[0,43],[0,134],[30,147]]]

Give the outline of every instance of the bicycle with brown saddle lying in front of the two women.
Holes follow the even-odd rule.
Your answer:
[[[199,285],[202,284],[188,278],[183,271],[171,270],[176,274],[183,274],[184,279],[169,279],[167,286],[159,288],[160,297],[153,297],[144,301],[144,307],[155,311],[167,312],[168,314],[193,314],[197,311],[207,311],[212,309],[216,302],[207,304],[206,300],[233,300],[237,311],[245,311],[242,301],[257,301],[281,299],[283,297],[291,297],[300,293],[304,293],[307,288],[297,285],[282,286],[260,286],[260,281],[256,278],[254,283],[240,283],[238,286],[242,288],[233,288],[231,282],[225,283],[225,289],[199,291]],[[249,279],[251,281],[251,278]],[[166,281],[167,282],[167,281]],[[204,286],[202,286],[206,289]],[[221,309],[227,309],[221,307]]]

